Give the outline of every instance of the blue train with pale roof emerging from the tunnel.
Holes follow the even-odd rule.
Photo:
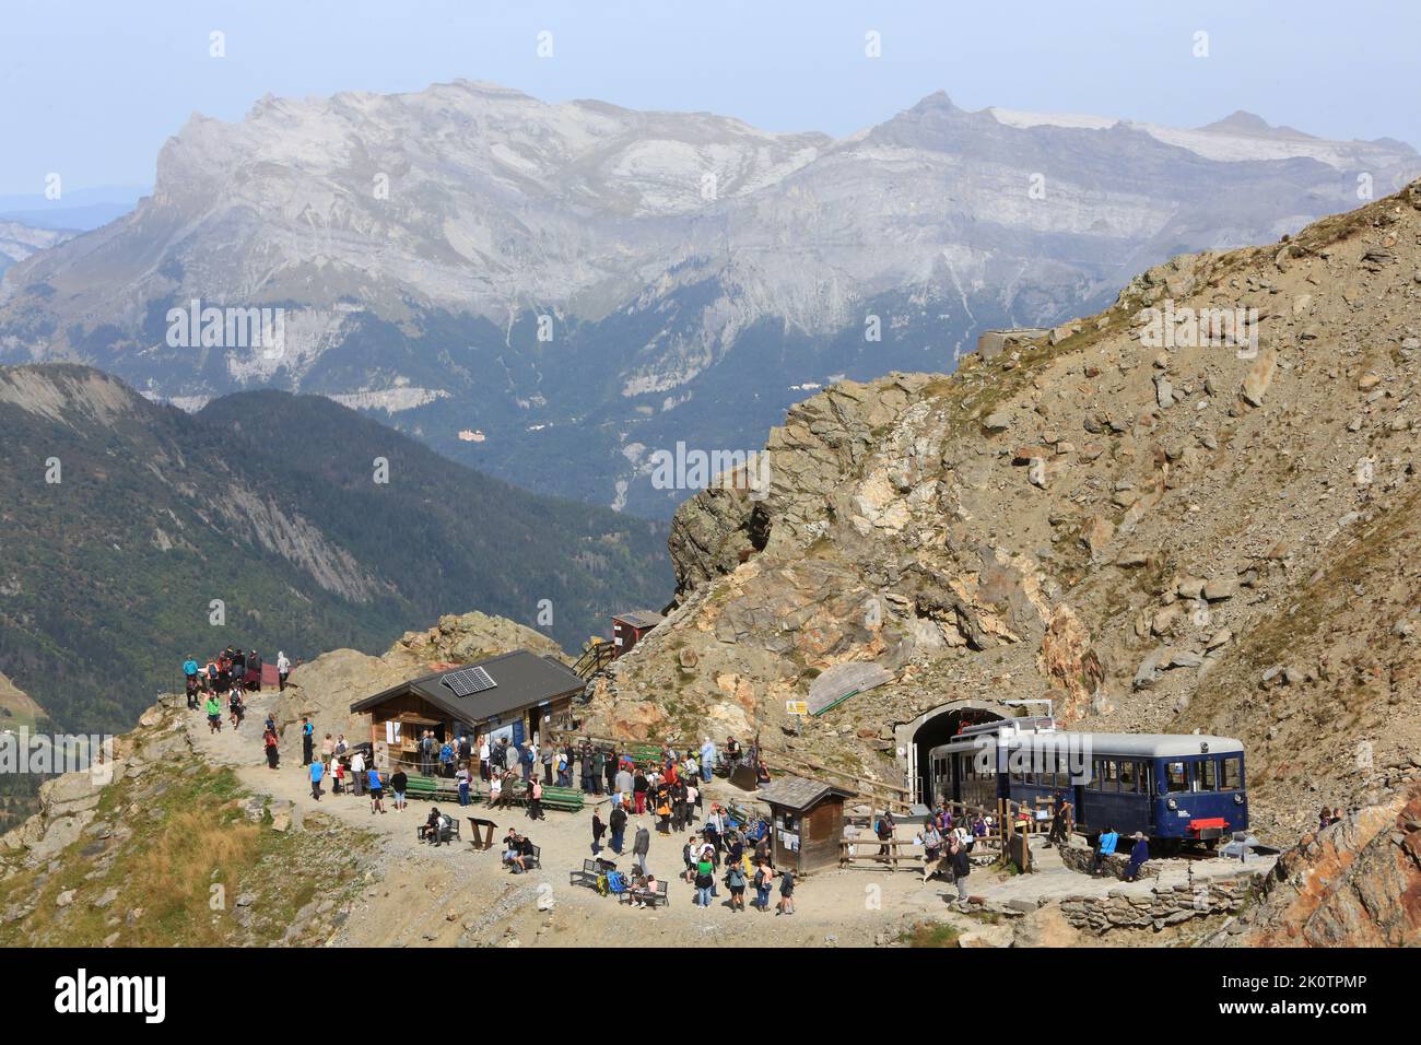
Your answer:
[[[1164,850],[1248,829],[1243,744],[1198,734],[1086,734],[1049,719],[965,729],[931,751],[934,799],[995,808],[1064,795],[1077,830],[1142,832]]]

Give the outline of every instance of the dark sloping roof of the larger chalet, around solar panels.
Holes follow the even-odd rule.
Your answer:
[[[495,685],[480,692],[459,697],[441,680],[463,668],[483,668]],[[460,668],[435,671],[421,678],[412,678],[372,697],[351,704],[351,714],[369,711],[392,697],[412,692],[446,711],[450,718],[476,724],[485,718],[503,715],[509,711],[531,708],[544,701],[567,697],[583,690],[583,680],[553,657],[539,657],[527,650],[514,650],[487,660],[465,664]]]

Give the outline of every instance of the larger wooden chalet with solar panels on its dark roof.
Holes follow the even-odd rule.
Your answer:
[[[551,729],[568,724],[573,697],[583,685],[561,661],[514,650],[392,685],[351,704],[351,714],[369,715],[377,751],[385,746],[391,758],[415,761],[426,729],[439,741],[463,734],[470,742],[479,736],[546,741]]]

